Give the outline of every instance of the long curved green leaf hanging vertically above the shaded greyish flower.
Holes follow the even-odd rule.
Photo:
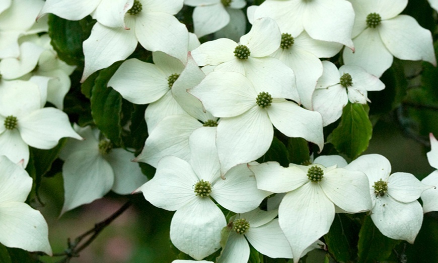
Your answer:
[[[121,142],[122,97],[111,87],[107,87],[109,79],[120,66],[116,62],[109,68],[101,70],[96,78],[91,94],[91,115],[102,134],[119,146]]]

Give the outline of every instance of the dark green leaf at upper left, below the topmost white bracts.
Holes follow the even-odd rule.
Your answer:
[[[69,21],[52,14],[48,16],[50,43],[53,49],[61,60],[69,65],[78,66],[78,70],[82,71],[82,43],[90,36],[96,21],[90,16],[80,21]]]

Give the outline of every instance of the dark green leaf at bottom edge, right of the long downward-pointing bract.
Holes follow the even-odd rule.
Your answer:
[[[336,214],[329,232],[324,235],[324,240],[337,261],[356,261],[359,228],[347,215]]]

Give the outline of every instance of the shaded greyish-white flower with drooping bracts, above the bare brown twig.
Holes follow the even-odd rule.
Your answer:
[[[80,205],[103,197],[110,190],[130,194],[148,181],[134,156],[122,148],[113,148],[105,138],[99,139],[99,130],[90,126],[75,129],[84,141],[69,140],[61,151],[64,160],[64,205],[61,214]]]

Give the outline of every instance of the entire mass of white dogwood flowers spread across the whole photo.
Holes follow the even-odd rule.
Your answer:
[[[410,173],[391,174],[382,155],[350,156],[347,162],[319,154],[329,140],[325,127],[339,121],[347,105],[367,105],[368,92],[385,89],[380,77],[394,57],[436,66],[430,31],[400,15],[407,0],[251,3],[0,4],[0,229],[10,228],[17,213],[29,217],[15,226],[20,231],[37,225],[29,238],[5,230],[0,242],[51,254],[44,219],[23,204],[30,178],[17,180],[26,177],[29,146],[51,149],[68,137],[59,152],[61,214],[109,191],[141,192],[154,206],[175,211],[170,239],[202,260],[197,262],[245,263],[255,250],[297,263],[313,249],[327,249],[321,237],[337,213],[371,217],[383,235],[413,243],[423,213],[438,208],[436,171],[419,181]],[[193,10],[192,28],[177,15],[184,5]],[[142,149],[108,139],[114,127],[104,130],[93,110],[94,119],[82,126],[62,111],[75,66],[61,61],[50,45],[47,17],[53,15],[95,20],[82,43],[80,82],[92,75],[99,82],[102,72],[117,65],[105,88],[123,98],[123,105],[147,105],[141,112],[147,125]],[[25,19],[18,23],[19,17]],[[138,50],[150,58],[137,57]],[[132,120],[124,123],[120,134],[132,133]],[[307,160],[265,162],[280,139],[304,140]],[[438,169],[432,135],[430,144],[427,158]],[[137,163],[156,170],[151,180]],[[25,195],[2,191],[8,184],[26,188]],[[11,218],[3,218],[2,210],[14,205],[22,210],[11,208]]]

